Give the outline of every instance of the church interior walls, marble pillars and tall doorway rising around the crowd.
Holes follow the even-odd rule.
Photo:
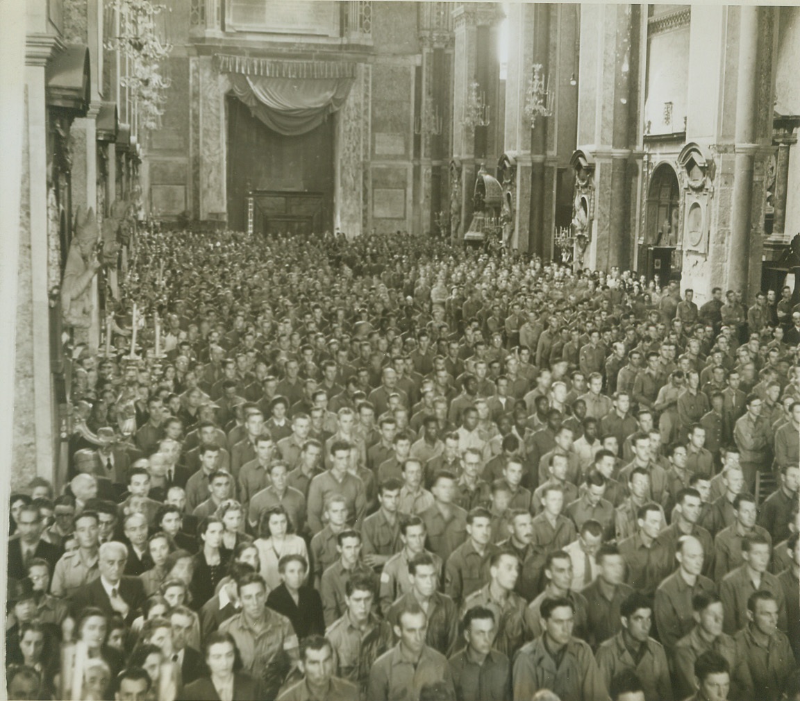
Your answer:
[[[72,478],[78,358],[110,353],[142,231],[430,239],[630,271],[697,305],[715,286],[800,301],[798,6],[2,13],[6,494]]]

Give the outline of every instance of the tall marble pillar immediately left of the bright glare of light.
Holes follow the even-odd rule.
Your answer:
[[[464,2],[453,10],[455,26],[455,74],[453,81],[453,156],[461,161],[463,237],[472,221],[472,196],[478,160],[494,170],[498,161],[498,110],[500,65],[496,51],[498,22],[502,19],[502,8],[491,2]],[[480,46],[479,28],[486,27],[486,46]],[[483,30],[481,31],[483,34]],[[482,50],[483,49],[483,50]],[[478,78],[483,78],[482,81]],[[466,105],[470,96],[470,85],[478,82],[478,90],[486,96],[491,123],[486,127],[468,128],[463,123]],[[475,157],[476,132],[482,129],[485,136],[481,158]]]

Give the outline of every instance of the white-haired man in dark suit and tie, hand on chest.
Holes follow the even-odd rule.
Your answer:
[[[100,546],[100,576],[74,595],[72,615],[75,618],[87,606],[96,606],[108,616],[120,615],[128,625],[134,622],[147,595],[142,580],[122,576],[127,560],[125,544],[111,540]]]

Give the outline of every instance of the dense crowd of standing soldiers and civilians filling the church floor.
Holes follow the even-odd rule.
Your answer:
[[[10,699],[800,699],[790,288],[134,245],[11,496]]]

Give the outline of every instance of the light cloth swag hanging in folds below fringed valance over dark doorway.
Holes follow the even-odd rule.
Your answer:
[[[270,129],[297,136],[342,107],[353,78],[273,78],[230,74],[233,92]]]

